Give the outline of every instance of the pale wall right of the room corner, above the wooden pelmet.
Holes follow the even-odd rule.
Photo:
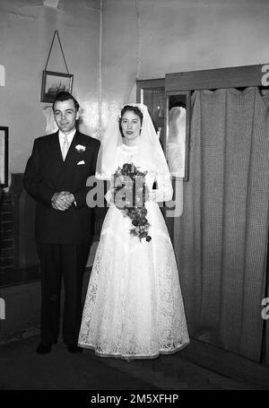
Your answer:
[[[266,0],[103,0],[104,114],[136,78],[268,63],[268,18]]]

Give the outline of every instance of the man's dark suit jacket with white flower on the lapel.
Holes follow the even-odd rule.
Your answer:
[[[84,152],[77,152],[81,144]],[[86,203],[90,187],[87,178],[94,176],[100,142],[76,131],[65,161],[58,132],[39,137],[27,162],[23,184],[37,201],[35,238],[39,242],[78,244],[91,241],[93,210]],[[85,164],[78,165],[79,161]],[[55,210],[51,198],[60,191],[74,194],[76,205],[65,211]]]

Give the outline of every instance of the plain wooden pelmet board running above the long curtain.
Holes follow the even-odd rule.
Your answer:
[[[269,65],[246,65],[166,74],[165,91],[268,86],[268,70]],[[264,78],[263,83],[262,78]]]

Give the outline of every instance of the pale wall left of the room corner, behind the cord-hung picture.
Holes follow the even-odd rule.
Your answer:
[[[0,65],[5,68],[0,126],[9,126],[11,172],[24,170],[34,138],[45,134],[43,109],[49,104],[40,102],[41,78],[55,30],[74,74],[74,95],[84,109],[82,131],[97,132],[100,0],[59,0],[57,8],[43,3],[0,0]],[[66,72],[57,40],[48,70]]]

